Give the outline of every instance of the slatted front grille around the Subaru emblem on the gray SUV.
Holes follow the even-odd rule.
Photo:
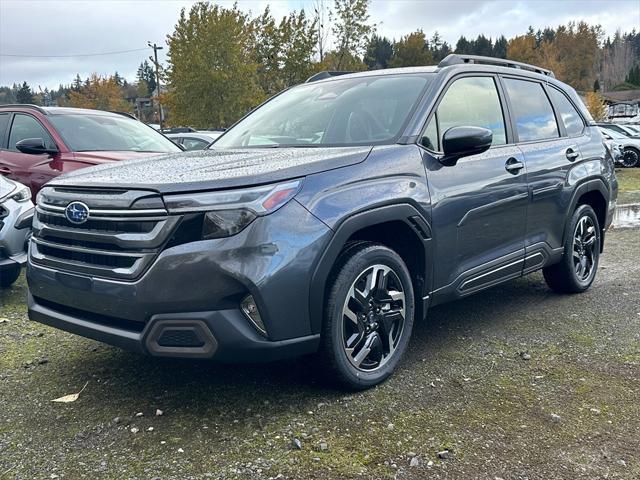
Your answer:
[[[30,255],[33,263],[58,270],[133,281],[153,263],[181,221],[157,208],[161,200],[152,192],[74,189],[70,197],[68,189],[45,190],[47,202],[36,207]],[[140,198],[154,208],[136,208]],[[86,222],[74,224],[66,218],[66,205],[72,201],[88,206]]]

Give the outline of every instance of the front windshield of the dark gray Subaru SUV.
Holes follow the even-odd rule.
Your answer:
[[[299,85],[241,120],[211,148],[389,143],[400,134],[431,75],[381,75]]]

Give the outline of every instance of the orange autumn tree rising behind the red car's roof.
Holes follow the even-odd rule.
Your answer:
[[[116,79],[113,76],[101,77],[96,73],[78,91],[69,92],[67,105],[96,110],[131,111],[131,104],[123,98],[122,88]]]

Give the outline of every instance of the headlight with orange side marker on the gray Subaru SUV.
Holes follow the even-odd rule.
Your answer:
[[[170,213],[205,212],[202,238],[222,238],[241,232],[257,217],[275,212],[300,189],[301,180],[238,190],[167,195]]]

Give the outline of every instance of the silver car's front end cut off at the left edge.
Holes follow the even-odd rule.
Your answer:
[[[0,176],[0,287],[10,287],[27,261],[34,207],[31,191]]]

